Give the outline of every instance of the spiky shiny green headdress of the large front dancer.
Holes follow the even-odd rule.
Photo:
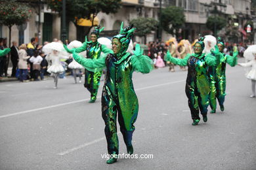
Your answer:
[[[133,24],[123,28],[123,22],[121,23],[119,34],[113,37],[113,39],[119,39],[121,42],[121,50],[119,54],[123,54],[127,51],[135,29],[136,28],[133,27]]]

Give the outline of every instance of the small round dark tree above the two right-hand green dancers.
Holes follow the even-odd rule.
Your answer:
[[[223,16],[209,16],[207,18],[206,27],[217,35],[218,30],[226,26],[226,19]]]

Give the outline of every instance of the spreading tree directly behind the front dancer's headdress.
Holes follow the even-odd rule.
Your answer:
[[[139,37],[144,37],[146,43],[146,35],[156,30],[158,27],[158,21],[154,18],[142,18],[131,20],[130,24],[133,24],[137,29],[135,35]]]

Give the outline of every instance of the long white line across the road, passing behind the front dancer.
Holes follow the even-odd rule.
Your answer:
[[[167,82],[167,83],[158,84],[158,85],[154,85],[154,86],[148,86],[148,87],[145,87],[145,88],[138,88],[135,91],[145,90],[145,89],[149,89],[149,88],[157,88],[157,87],[160,87],[160,86],[166,86],[166,85],[169,85],[169,84],[175,84],[175,83],[184,82],[184,81],[185,80],[179,80],[179,81],[175,81],[175,82]],[[99,98],[99,97],[100,96],[97,96],[97,98]],[[60,106],[64,106],[64,105],[70,105],[70,104],[74,104],[74,103],[84,102],[84,101],[88,101],[88,100],[89,99],[81,99],[81,100],[77,100],[77,101],[70,101],[70,102],[67,102],[67,103],[60,103],[58,105],[51,105],[49,107],[41,107],[41,108],[38,108],[38,109],[25,110],[25,111],[22,111],[22,112],[15,112],[15,113],[12,113],[12,114],[5,114],[3,116],[0,116],[0,119],[1,118],[7,118],[7,117],[10,117],[10,116],[16,116],[16,115],[20,115],[20,114],[31,113],[31,112],[35,112],[35,111],[38,111],[38,110],[51,109],[51,108],[54,108],[54,107],[60,107]]]

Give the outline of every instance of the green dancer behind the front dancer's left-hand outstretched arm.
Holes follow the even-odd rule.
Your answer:
[[[100,29],[100,27],[95,27],[95,30],[91,33],[91,41],[88,42],[87,38],[85,37],[85,42],[83,42],[83,46],[79,48],[73,48],[75,52],[80,53],[83,51],[87,51],[87,58],[91,59],[98,59],[100,58],[100,53],[103,52],[105,54],[113,53],[112,50],[107,48],[105,45],[100,44],[97,42],[97,39],[100,35],[100,32],[104,29]],[[67,48],[66,45],[64,45],[64,48],[67,52],[72,53],[73,49],[70,50]],[[98,86],[100,85],[100,77],[102,75],[102,70],[92,72],[87,69],[85,69],[85,88],[91,93],[91,100],[89,103],[95,103],[96,101],[96,95],[98,93]]]

